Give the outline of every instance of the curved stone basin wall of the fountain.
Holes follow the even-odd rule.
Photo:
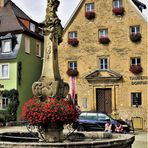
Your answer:
[[[80,132],[79,132],[80,133]],[[83,132],[85,139],[65,140],[58,143],[44,142],[8,142],[1,141],[0,147],[7,148],[131,148],[135,140],[134,135],[112,134],[106,132]],[[74,138],[74,137],[73,137]]]

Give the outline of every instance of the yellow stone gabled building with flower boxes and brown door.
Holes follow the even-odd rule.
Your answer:
[[[61,76],[81,110],[115,112],[139,129],[148,124],[145,8],[138,0],[82,0],[59,49]]]

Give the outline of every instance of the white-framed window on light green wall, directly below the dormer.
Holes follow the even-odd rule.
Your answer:
[[[9,78],[9,64],[0,64],[0,79]]]

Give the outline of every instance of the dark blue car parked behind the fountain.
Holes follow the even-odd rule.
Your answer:
[[[104,131],[105,124],[108,121],[111,121],[112,123],[112,131],[115,130],[115,125],[117,123],[122,124],[124,132],[129,132],[131,130],[131,127],[127,122],[121,119],[114,119],[106,113],[95,112],[82,112],[79,119],[73,123],[73,128],[78,131]]]

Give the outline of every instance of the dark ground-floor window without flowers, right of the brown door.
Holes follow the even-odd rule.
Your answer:
[[[142,95],[140,92],[134,92],[131,93],[131,105],[132,106],[138,106],[138,105],[142,105]]]

